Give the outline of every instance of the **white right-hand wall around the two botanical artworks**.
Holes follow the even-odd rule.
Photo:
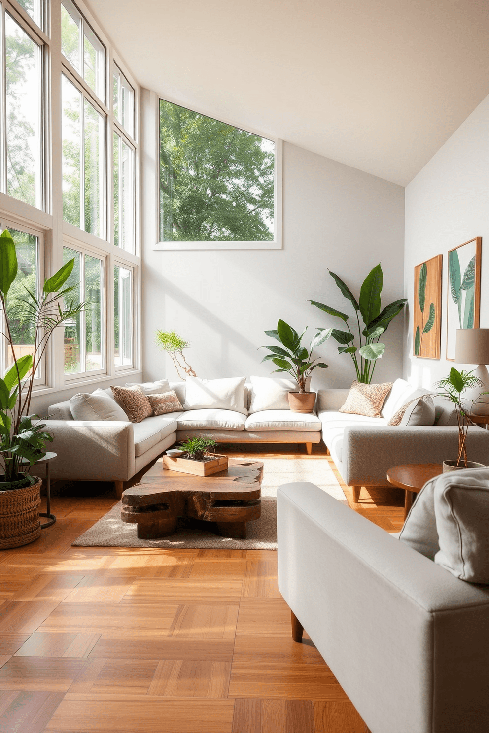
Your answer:
[[[489,327],[489,96],[460,125],[405,191],[405,328],[404,372],[414,384],[433,386],[449,373],[446,361],[448,251],[482,237],[480,327]],[[443,254],[441,359],[413,355],[414,266]],[[464,368],[468,368],[464,366]]]

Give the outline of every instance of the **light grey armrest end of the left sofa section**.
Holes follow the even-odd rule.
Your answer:
[[[119,421],[48,420],[58,454],[52,479],[128,481],[136,472],[133,424]]]

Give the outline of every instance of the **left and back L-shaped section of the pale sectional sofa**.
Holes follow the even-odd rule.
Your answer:
[[[173,443],[202,434],[213,435],[218,443],[304,443],[310,453],[312,443],[321,439],[321,422],[316,413],[291,412],[287,389],[271,395],[268,405],[273,405],[273,409],[259,409],[267,406],[267,386],[273,392],[279,382],[287,380],[251,377],[249,383],[244,383],[243,377],[240,404],[234,405],[238,410],[223,409],[222,402],[216,402],[216,407],[196,409],[188,405],[183,410],[147,417],[139,423],[75,420],[70,401],[58,402],[48,410],[48,429],[54,435],[49,449],[58,454],[51,465],[51,476],[114,481],[120,495],[123,482]],[[187,405],[185,382],[166,383],[161,391],[169,388],[175,391],[182,405]],[[293,388],[293,384],[288,388]]]

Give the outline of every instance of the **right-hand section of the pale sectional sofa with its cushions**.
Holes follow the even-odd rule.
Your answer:
[[[432,425],[387,423],[394,412],[409,399],[431,394],[435,405]],[[354,501],[362,486],[386,486],[386,472],[404,463],[441,463],[457,457],[458,428],[455,408],[443,397],[427,389],[415,389],[396,380],[386,397],[379,418],[340,413],[348,389],[320,389],[317,415],[323,441],[345,483],[353,487]],[[391,399],[394,398],[394,399]],[[489,431],[471,426],[467,436],[469,460],[489,464]]]

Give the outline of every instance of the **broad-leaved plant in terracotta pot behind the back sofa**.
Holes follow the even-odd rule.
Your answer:
[[[282,346],[262,346],[262,349],[268,349],[271,354],[267,354],[262,361],[273,361],[278,369],[273,372],[288,372],[297,382],[298,391],[289,392],[289,406],[292,412],[310,413],[314,408],[316,393],[306,391],[306,383],[309,376],[316,367],[328,369],[328,364],[323,361],[318,362],[317,358],[312,358],[312,350],[315,346],[323,343],[325,340],[323,334],[317,334],[309,344],[309,349],[302,345],[302,339],[306,333],[307,327],[299,336],[292,326],[285,323],[279,318],[279,323],[275,331],[265,331],[271,339],[276,339]]]

